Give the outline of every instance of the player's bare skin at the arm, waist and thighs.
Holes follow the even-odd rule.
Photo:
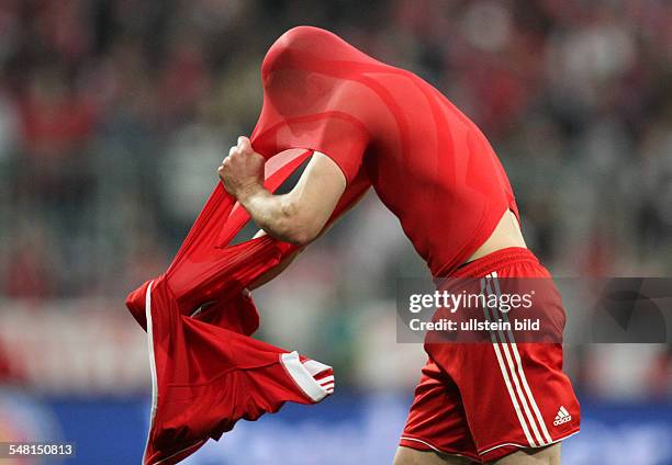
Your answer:
[[[323,231],[334,207],[346,189],[346,178],[338,166],[326,155],[315,152],[296,185],[287,194],[273,195],[264,188],[261,155],[254,151],[247,137],[238,137],[217,172],[226,191],[236,197],[262,229],[259,234],[291,242],[302,248]],[[506,212],[493,234],[469,258],[475,260],[507,247],[526,247],[518,222]],[[300,249],[302,250],[302,249]],[[253,288],[280,274],[299,252],[261,276]],[[394,465],[461,465],[470,461],[434,452],[423,452],[400,446]],[[558,465],[560,444],[544,449],[524,449],[496,462],[497,465]]]

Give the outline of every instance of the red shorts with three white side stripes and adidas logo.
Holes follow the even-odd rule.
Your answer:
[[[474,260],[453,276],[493,275],[550,280],[535,256],[520,248]],[[556,314],[563,326],[559,294],[542,307],[534,310]],[[562,372],[561,343],[515,343],[500,331],[492,343],[426,342],[425,351],[428,361],[400,445],[482,463],[579,431],[579,401]]]

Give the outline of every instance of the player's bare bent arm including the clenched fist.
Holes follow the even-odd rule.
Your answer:
[[[238,145],[231,148],[219,169],[224,188],[266,232],[307,245],[320,235],[345,191],[343,172],[327,156],[315,152],[294,189],[273,195],[262,184],[264,162],[249,139],[238,137]]]

